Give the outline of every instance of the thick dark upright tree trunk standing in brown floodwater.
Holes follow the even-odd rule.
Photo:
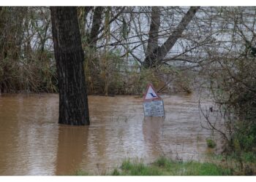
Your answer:
[[[50,7],[50,12],[59,79],[59,123],[90,124],[76,7]]]

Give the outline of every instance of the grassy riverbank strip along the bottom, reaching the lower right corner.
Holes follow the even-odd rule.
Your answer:
[[[218,159],[217,159],[218,157]],[[140,160],[124,160],[120,167],[114,168],[109,173],[100,175],[255,175],[256,170],[251,164],[251,173],[246,169],[241,170],[235,160],[227,159],[224,162],[222,157],[213,157],[214,162],[196,161],[175,161],[166,157],[159,157],[151,164],[145,164]],[[248,162],[247,162],[248,164]],[[245,165],[246,166],[246,165]],[[248,172],[248,171],[247,171]],[[75,172],[75,175],[91,175],[82,170]]]

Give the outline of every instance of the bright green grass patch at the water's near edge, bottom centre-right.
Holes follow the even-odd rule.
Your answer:
[[[160,157],[151,165],[126,160],[110,175],[232,175],[232,172],[212,163],[176,162]]]

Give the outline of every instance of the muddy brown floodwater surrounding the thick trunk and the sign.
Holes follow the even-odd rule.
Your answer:
[[[142,98],[89,96],[91,125],[58,124],[59,95],[0,95],[0,175],[94,175],[124,159],[203,160],[211,135],[196,95],[162,95],[165,118],[143,116]]]

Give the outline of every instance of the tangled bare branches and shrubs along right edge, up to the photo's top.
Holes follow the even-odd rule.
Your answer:
[[[256,19],[251,13],[255,8],[222,7],[221,10],[222,26],[211,33],[223,36],[215,36],[214,47],[204,47],[206,64],[200,70],[206,77],[203,86],[211,90],[216,103],[214,111],[208,109],[204,116],[208,127],[224,137],[223,154],[236,154],[243,167],[243,154],[254,152],[256,147]]]

